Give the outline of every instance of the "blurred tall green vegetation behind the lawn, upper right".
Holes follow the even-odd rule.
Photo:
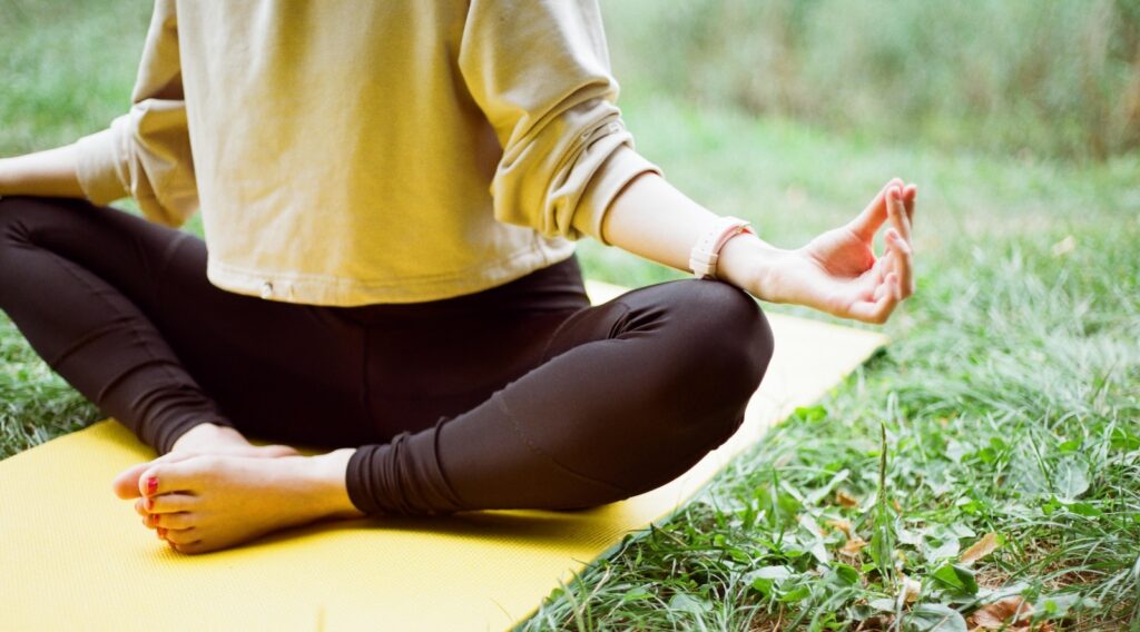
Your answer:
[[[1137,0],[624,0],[619,72],[699,104],[940,148],[1140,143]]]

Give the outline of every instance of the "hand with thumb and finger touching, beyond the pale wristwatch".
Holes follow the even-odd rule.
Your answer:
[[[865,322],[882,323],[914,293],[911,220],[914,184],[895,179],[846,225],[787,253],[767,284],[776,303],[796,303]],[[889,222],[886,251],[874,254],[874,236]]]

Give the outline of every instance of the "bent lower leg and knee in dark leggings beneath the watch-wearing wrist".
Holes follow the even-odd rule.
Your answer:
[[[773,339],[756,302],[682,280],[575,313],[537,368],[475,408],[358,449],[367,514],[591,507],[684,473],[739,427]]]

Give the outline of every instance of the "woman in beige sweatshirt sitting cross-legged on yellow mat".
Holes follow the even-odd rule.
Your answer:
[[[910,296],[915,188],[774,248],[671,187],[616,98],[591,2],[160,0],[130,112],[0,161],[0,307],[161,454],[113,486],[178,551],[645,492],[741,424],[754,297],[883,322]],[[204,241],[174,228],[199,211]],[[698,278],[591,306],[586,236]]]

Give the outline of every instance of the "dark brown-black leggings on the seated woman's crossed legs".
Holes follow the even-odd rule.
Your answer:
[[[252,237],[251,237],[252,238]],[[591,507],[731,436],[772,354],[756,302],[678,280],[589,306],[575,257],[443,301],[243,296],[205,244],[113,208],[0,200],[0,307],[160,453],[202,422],[335,449],[368,514]]]

